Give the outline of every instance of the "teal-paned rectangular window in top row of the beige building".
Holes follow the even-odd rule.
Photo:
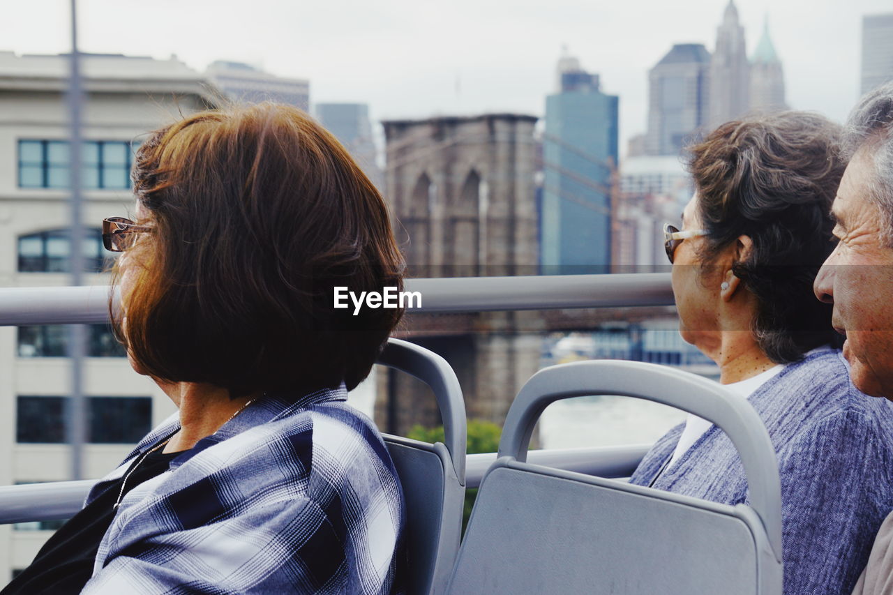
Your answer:
[[[85,140],[83,184],[87,189],[129,189],[133,149],[126,140]],[[20,188],[68,188],[67,140],[20,140]]]

